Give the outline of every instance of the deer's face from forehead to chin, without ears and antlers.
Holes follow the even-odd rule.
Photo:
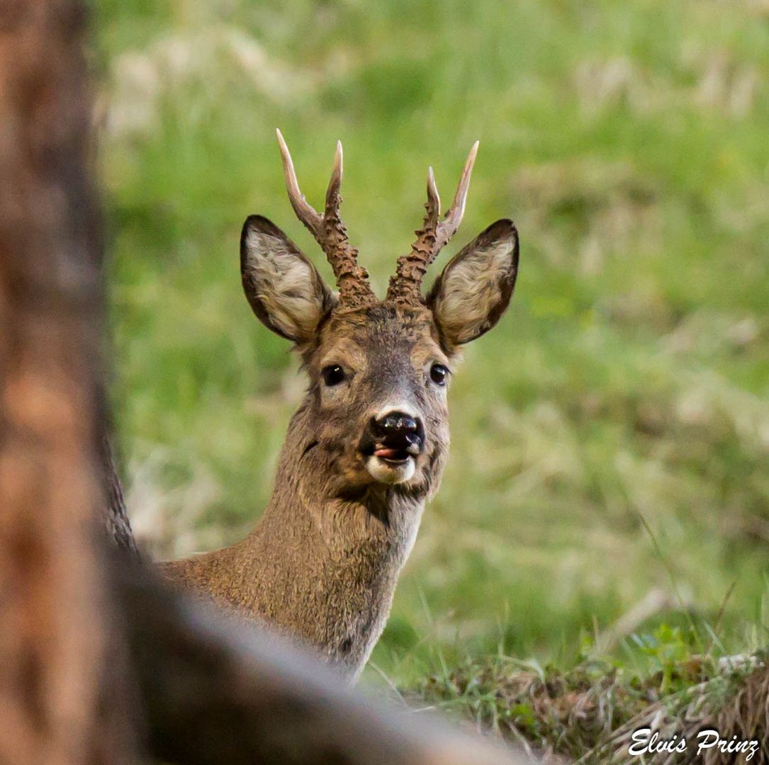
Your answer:
[[[348,487],[429,490],[448,448],[450,364],[431,311],[332,312],[308,365],[311,421]]]

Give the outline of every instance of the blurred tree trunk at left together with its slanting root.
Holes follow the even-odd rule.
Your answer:
[[[135,555],[102,433],[84,27],[79,0],[0,0],[0,763],[512,762]]]

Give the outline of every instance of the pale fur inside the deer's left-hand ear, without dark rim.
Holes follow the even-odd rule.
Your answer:
[[[312,266],[281,238],[248,231],[247,268],[257,297],[275,328],[289,338],[309,337],[323,311],[323,292]]]

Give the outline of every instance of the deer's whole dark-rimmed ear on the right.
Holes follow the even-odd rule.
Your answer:
[[[518,231],[503,219],[458,252],[428,294],[444,340],[461,345],[488,332],[508,307],[517,275]]]

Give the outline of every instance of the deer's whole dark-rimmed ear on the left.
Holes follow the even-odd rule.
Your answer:
[[[262,324],[297,343],[308,341],[335,297],[321,274],[275,224],[249,215],[241,233],[241,278]]]

